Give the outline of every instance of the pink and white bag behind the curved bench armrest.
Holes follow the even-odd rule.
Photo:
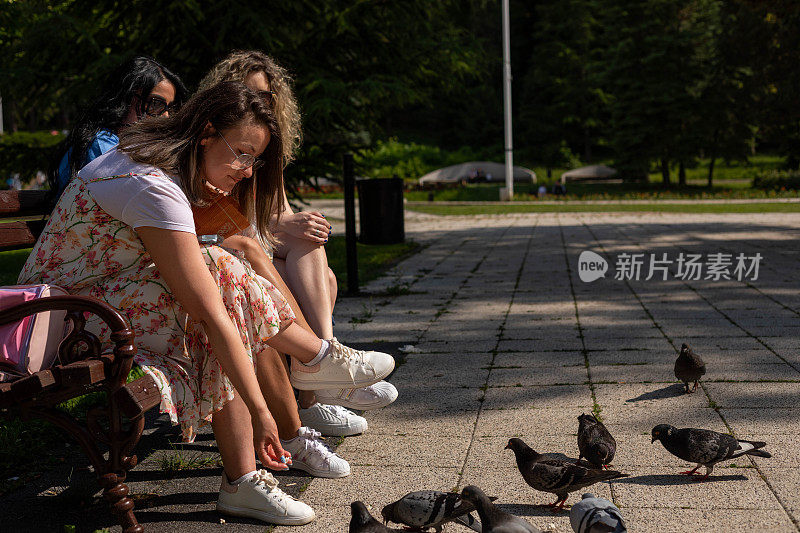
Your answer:
[[[55,285],[0,287],[0,309],[44,298],[67,295]],[[0,381],[11,381],[50,368],[67,333],[66,311],[45,311],[0,326]]]

